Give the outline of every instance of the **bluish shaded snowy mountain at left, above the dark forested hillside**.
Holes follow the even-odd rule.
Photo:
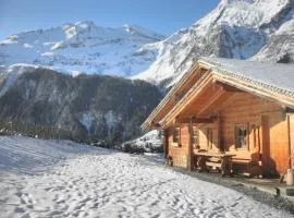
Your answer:
[[[163,38],[134,25],[109,28],[78,22],[0,40],[0,65],[33,63],[66,73],[130,76],[147,70],[157,57],[140,47]]]

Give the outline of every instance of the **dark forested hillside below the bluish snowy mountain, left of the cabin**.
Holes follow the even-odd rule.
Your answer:
[[[2,128],[42,137],[130,140],[161,98],[156,86],[143,81],[73,77],[36,65],[15,64],[0,71],[0,77]]]

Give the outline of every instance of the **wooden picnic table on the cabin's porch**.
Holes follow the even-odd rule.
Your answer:
[[[233,175],[232,157],[235,155],[228,153],[197,152],[195,156],[198,171],[209,172],[210,169],[219,169],[222,177],[225,174]]]

